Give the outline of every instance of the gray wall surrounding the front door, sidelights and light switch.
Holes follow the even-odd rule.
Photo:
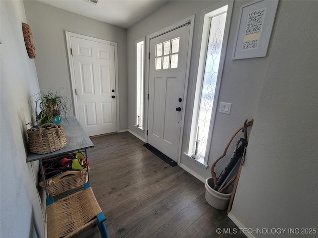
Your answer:
[[[147,37],[148,35],[159,31],[173,23],[176,23],[186,17],[195,15],[194,34],[191,54],[191,64],[189,72],[189,83],[187,91],[187,105],[185,112],[183,143],[181,152],[188,151],[188,141],[190,136],[190,123],[193,113],[193,100],[195,95],[197,59],[201,44],[199,32],[201,11],[210,7],[219,1],[172,1],[161,7],[155,13],[149,15],[136,25],[128,29],[128,115],[129,130],[138,136],[145,138],[145,134],[137,129],[135,124],[135,41]],[[263,79],[266,72],[268,57],[246,60],[232,60],[232,51],[237,30],[239,18],[239,9],[242,4],[249,1],[235,1],[233,7],[231,28],[228,40],[228,49],[226,52],[225,65],[223,71],[222,84],[220,89],[219,102],[232,103],[231,114],[216,114],[213,130],[212,143],[210,147],[209,162],[211,165],[216,158],[223,154],[223,150],[232,134],[243,124],[245,119],[253,119],[259,95],[262,88]],[[271,44],[269,46],[269,52]],[[219,104],[218,104],[219,107]],[[231,154],[231,152],[230,152]],[[220,172],[226,160],[217,164],[216,172]],[[210,167],[203,169],[181,154],[181,166],[192,171],[192,174],[198,175],[201,180],[211,176]]]

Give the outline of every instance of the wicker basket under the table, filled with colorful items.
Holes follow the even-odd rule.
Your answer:
[[[77,188],[88,181],[88,173],[86,169],[70,170],[62,174],[46,179],[46,187],[50,196],[56,196],[60,193]],[[44,182],[40,182],[40,186],[44,187]]]

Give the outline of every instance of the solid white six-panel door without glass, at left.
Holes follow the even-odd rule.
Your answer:
[[[115,48],[99,41],[70,36],[76,116],[88,136],[117,131]]]

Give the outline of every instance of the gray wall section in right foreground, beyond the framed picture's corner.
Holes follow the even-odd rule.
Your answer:
[[[232,209],[245,227],[318,229],[317,12],[317,1],[280,2]],[[315,235],[275,235],[301,236]]]

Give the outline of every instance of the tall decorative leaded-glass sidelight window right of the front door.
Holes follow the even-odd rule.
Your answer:
[[[232,11],[233,3],[231,4]],[[211,7],[212,8],[212,7]],[[221,57],[222,47],[227,39],[224,39],[227,22],[228,5],[214,8],[204,14],[199,68],[196,85],[195,105],[191,124],[191,137],[189,152],[195,151],[195,140],[198,138],[198,155],[200,163],[207,165],[207,155],[210,148],[215,109],[214,97],[219,90],[221,75],[219,68],[223,68],[224,57]],[[225,43],[226,44],[226,43]],[[172,61],[172,60],[171,60]]]

